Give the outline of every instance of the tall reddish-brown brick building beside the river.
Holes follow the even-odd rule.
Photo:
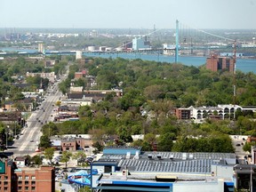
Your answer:
[[[212,54],[206,60],[206,68],[212,71],[227,69],[229,72],[234,71],[235,60],[231,57],[219,57],[217,54]]]

